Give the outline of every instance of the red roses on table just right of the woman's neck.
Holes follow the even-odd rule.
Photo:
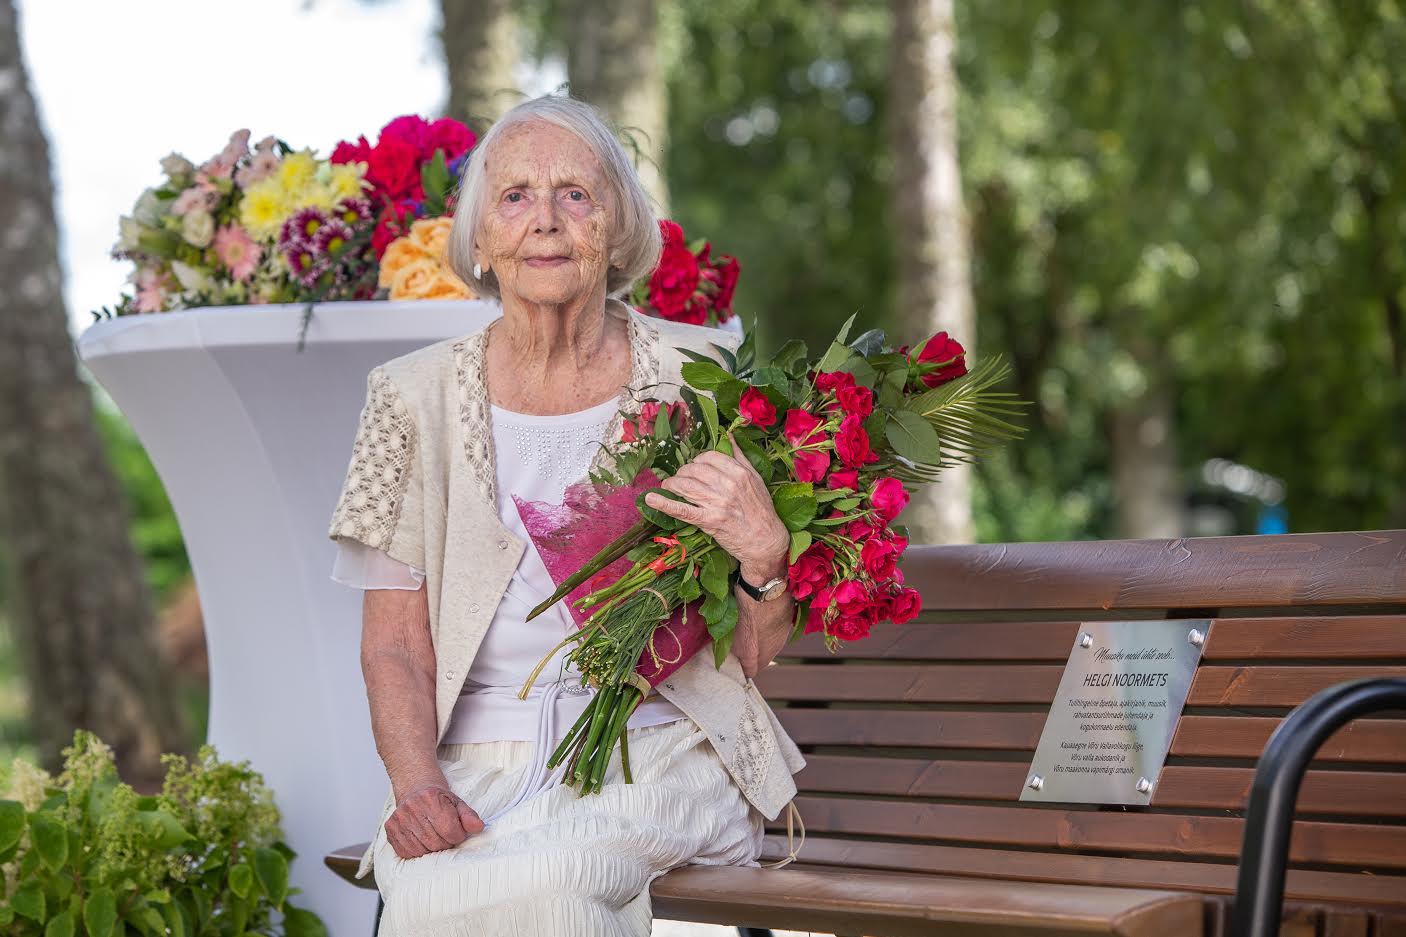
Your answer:
[[[664,252],[648,279],[641,280],[630,302],[645,315],[689,325],[721,325],[733,318],[733,295],[741,272],[737,257],[710,257],[713,245],[683,239],[683,228],[661,221]]]

